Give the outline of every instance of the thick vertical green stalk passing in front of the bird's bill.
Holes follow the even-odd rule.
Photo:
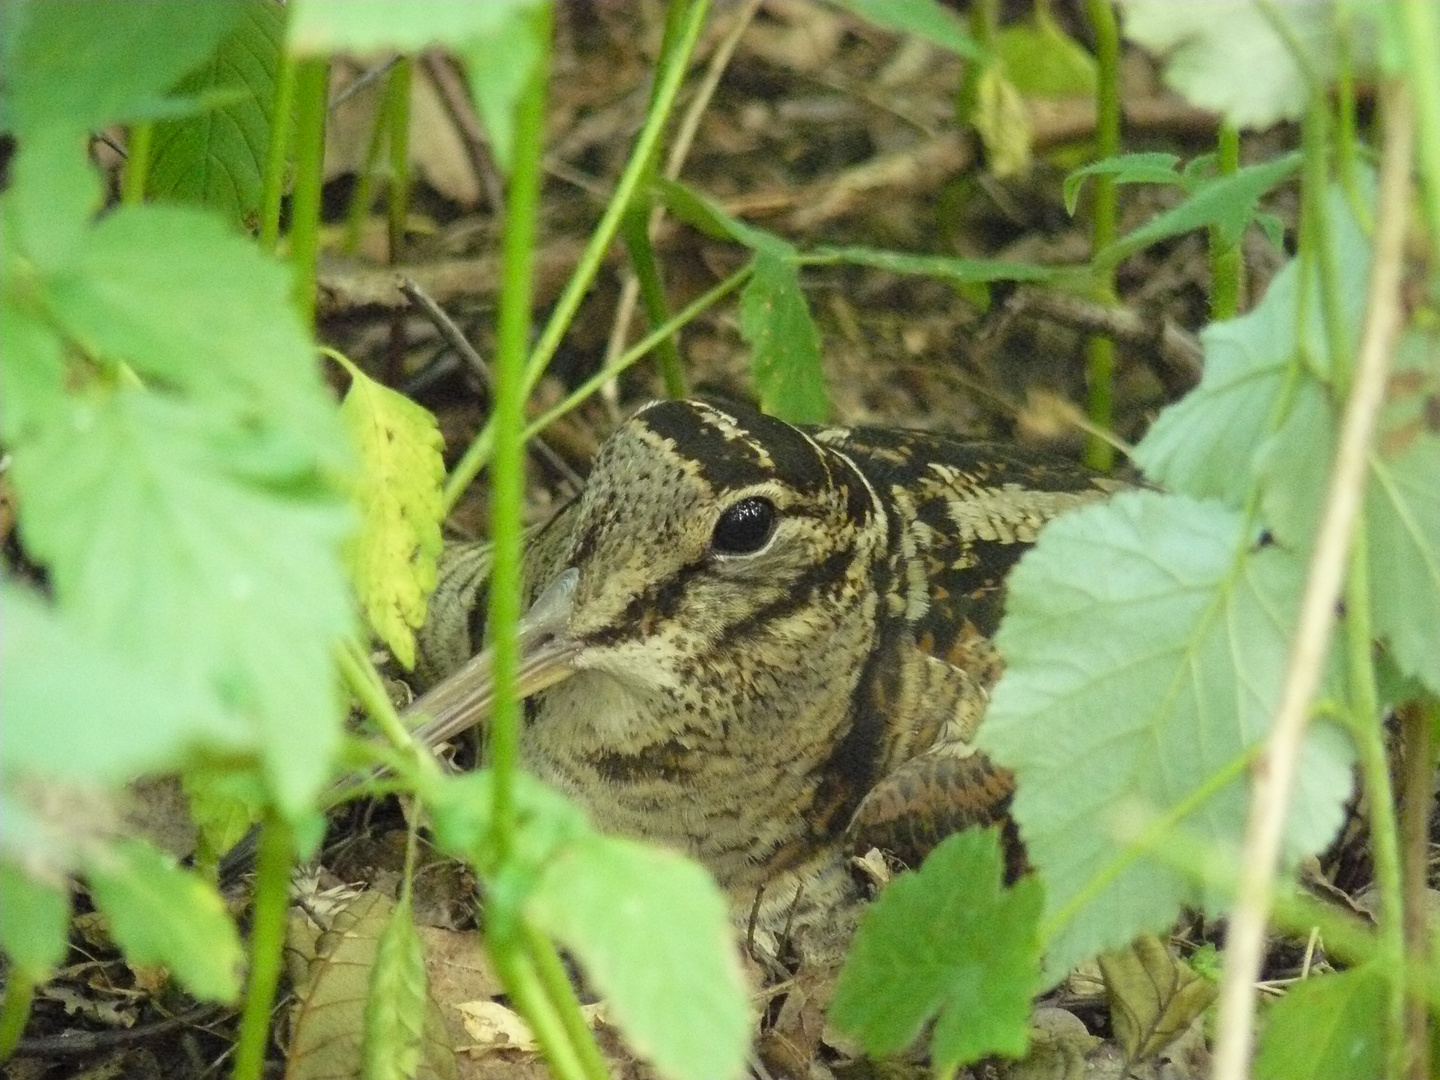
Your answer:
[[[510,184],[505,190],[505,220],[501,236],[503,278],[500,317],[495,330],[495,390],[491,423],[495,428],[495,458],[491,462],[490,626],[494,632],[495,706],[490,721],[490,768],[494,773],[494,834],[503,864],[514,837],[514,782],[520,743],[520,700],[516,672],[520,649],[516,624],[520,621],[520,508],[524,504],[524,379],[526,344],[530,340],[530,266],[534,253],[536,217],[540,204],[540,158],[544,150],[544,102],[550,75],[549,4],[536,17],[543,20],[530,84],[516,107],[516,147]]]

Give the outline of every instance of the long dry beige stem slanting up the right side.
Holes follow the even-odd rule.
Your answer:
[[[1240,888],[1225,937],[1225,966],[1217,1007],[1215,1080],[1241,1080],[1248,1074],[1254,1040],[1254,984],[1264,955],[1264,927],[1274,893],[1280,834],[1359,517],[1367,455],[1385,393],[1390,357],[1401,330],[1400,284],[1410,199],[1410,98],[1398,82],[1387,84],[1384,98],[1380,212],[1365,324],[1280,704],[1254,769],[1240,857]]]

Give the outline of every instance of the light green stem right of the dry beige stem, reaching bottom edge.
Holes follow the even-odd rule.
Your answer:
[[[1346,710],[1351,737],[1359,756],[1361,782],[1369,811],[1371,852],[1375,887],[1380,890],[1378,945],[1381,971],[1391,973],[1387,994],[1387,1076],[1398,1080],[1405,1047],[1405,924],[1400,874],[1400,842],[1395,793],[1390,782],[1385,736],[1381,730],[1380,696],[1375,690],[1375,661],[1371,642],[1369,564],[1365,552],[1365,520],[1355,523],[1351,540],[1349,575],[1345,582],[1345,658],[1349,683]]]

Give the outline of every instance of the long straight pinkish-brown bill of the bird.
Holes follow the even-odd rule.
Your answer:
[[[566,634],[579,572],[569,569],[536,598],[516,628],[520,639],[520,670],[516,677],[521,698],[569,677],[579,645]],[[422,719],[413,729],[426,746],[439,746],[461,732],[484,723],[495,700],[494,647],[471,657],[405,710],[405,719]]]

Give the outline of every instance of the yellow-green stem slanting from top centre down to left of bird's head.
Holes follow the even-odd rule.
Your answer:
[[[645,124],[635,140],[635,148],[631,151],[629,163],[625,166],[625,171],[621,174],[619,183],[615,186],[615,193],[611,196],[609,206],[605,207],[605,213],[600,216],[599,225],[595,226],[595,232],[590,235],[590,240],[586,245],[585,252],[580,255],[580,261],[576,264],[575,274],[570,275],[570,281],[566,284],[564,292],[560,294],[560,300],[556,301],[554,310],[550,312],[550,320],[540,333],[540,340],[536,343],[536,347],[530,353],[530,359],[526,363],[524,386],[527,395],[534,384],[540,382],[540,376],[544,374],[546,364],[550,363],[550,357],[554,356],[554,350],[560,346],[560,340],[564,337],[564,331],[569,328],[570,320],[575,318],[575,312],[579,310],[580,301],[589,291],[596,271],[599,271],[605,252],[609,251],[611,242],[619,230],[621,217],[638,190],[639,180],[645,171],[645,163],[655,151],[655,145],[660,141],[661,131],[665,125],[665,118],[670,115],[670,109],[675,102],[675,95],[680,92],[680,84],[684,79],[690,53],[694,52],[696,40],[700,37],[700,29],[704,26],[706,13],[708,10],[708,0],[696,0],[696,3],[693,3],[685,12],[683,33],[680,35],[680,40],[675,46],[675,58],[664,69],[660,79],[660,89],[655,92],[649,112],[645,117]],[[491,425],[492,420],[480,431],[445,481],[446,510],[454,508],[465,488],[469,487],[469,482],[488,459],[494,439]]]

